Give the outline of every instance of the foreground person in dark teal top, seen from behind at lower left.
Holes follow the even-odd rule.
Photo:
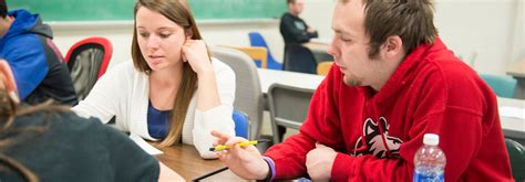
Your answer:
[[[2,181],[184,181],[124,133],[50,101],[20,105],[0,60]]]

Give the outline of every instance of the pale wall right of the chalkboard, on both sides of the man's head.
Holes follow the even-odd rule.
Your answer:
[[[321,38],[333,35],[336,0],[305,0],[302,18]],[[524,0],[435,0],[434,22],[449,49],[477,72],[504,75],[525,57]],[[321,13],[319,13],[321,12]]]

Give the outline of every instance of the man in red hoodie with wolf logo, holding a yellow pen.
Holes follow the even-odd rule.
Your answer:
[[[328,51],[336,64],[300,132],[261,157],[213,132],[246,179],[411,181],[424,133],[437,133],[445,181],[513,181],[496,96],[447,50],[431,0],[339,0]]]

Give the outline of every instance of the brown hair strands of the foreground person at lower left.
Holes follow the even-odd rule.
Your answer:
[[[40,111],[47,113],[63,113],[70,110],[66,106],[56,106],[52,105],[52,101],[47,101],[37,106],[27,106],[21,107],[13,101],[9,94],[4,89],[0,89],[0,135],[6,132],[11,132],[14,120],[17,117],[35,114]],[[29,130],[19,130],[19,131],[43,131],[44,128],[30,128]],[[7,149],[16,141],[14,138],[0,139],[0,149]],[[27,181],[38,182],[38,176],[23,164],[17,160],[0,153],[0,165],[4,165],[9,169],[14,170],[20,173]]]

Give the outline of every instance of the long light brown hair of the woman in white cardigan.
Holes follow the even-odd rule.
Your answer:
[[[138,8],[141,7],[158,12],[171,21],[177,23],[186,32],[192,33],[192,40],[203,39],[195,23],[192,11],[184,0],[138,0],[135,4],[135,17]],[[138,47],[136,28],[134,28],[133,31],[132,58],[136,69],[145,74],[151,74],[152,69],[147,65],[144,56],[142,55],[141,49]],[[188,106],[196,90],[197,74],[192,69],[188,63],[184,63],[181,85],[178,87],[177,95],[175,96],[173,110],[169,117],[169,130],[166,138],[161,142],[161,147],[168,147],[179,143]]]

